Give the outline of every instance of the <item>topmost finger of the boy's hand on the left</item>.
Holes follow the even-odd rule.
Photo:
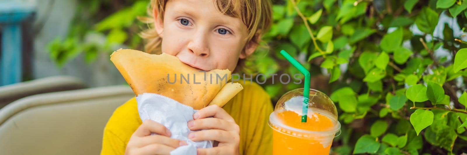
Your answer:
[[[134,131],[133,135],[138,137],[143,137],[147,135],[151,135],[151,133],[156,133],[159,135],[165,135],[170,137],[169,129],[165,128],[164,125],[151,120],[143,121],[143,123]]]

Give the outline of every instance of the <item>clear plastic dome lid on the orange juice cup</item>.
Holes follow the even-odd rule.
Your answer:
[[[277,101],[274,112],[269,116],[269,125],[276,131],[294,136],[339,135],[340,122],[336,106],[329,96],[318,90],[309,90],[307,122],[301,122],[305,100],[303,90],[291,90]]]

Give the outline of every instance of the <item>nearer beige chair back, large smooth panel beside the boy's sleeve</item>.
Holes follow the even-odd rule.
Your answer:
[[[132,97],[112,86],[14,101],[0,109],[0,155],[98,155],[106,122]]]

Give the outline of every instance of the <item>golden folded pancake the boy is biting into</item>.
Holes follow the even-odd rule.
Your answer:
[[[231,78],[228,69],[204,72],[170,54],[119,49],[110,60],[136,96],[161,94],[194,109],[212,104],[222,107],[243,89],[239,83],[227,82]]]

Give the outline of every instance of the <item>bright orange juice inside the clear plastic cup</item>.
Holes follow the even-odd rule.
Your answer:
[[[325,112],[309,110],[306,122],[301,122],[301,115],[290,110],[269,116],[269,125],[274,129],[273,155],[329,155],[340,124]]]

